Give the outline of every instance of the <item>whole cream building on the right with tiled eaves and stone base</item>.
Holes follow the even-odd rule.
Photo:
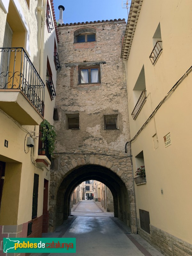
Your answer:
[[[132,0],[122,58],[138,232],[165,255],[192,255],[192,1]]]

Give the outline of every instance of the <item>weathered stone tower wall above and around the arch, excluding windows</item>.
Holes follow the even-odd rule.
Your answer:
[[[86,164],[107,167],[124,182],[122,202],[129,205],[119,217],[135,229],[135,202],[129,153],[124,153],[130,138],[125,67],[121,55],[124,21],[59,27],[57,73],[56,159],[50,182],[50,226],[55,225],[57,191],[74,168]],[[96,31],[95,42],[74,43],[77,30]],[[78,67],[100,67],[100,83],[79,84]],[[67,114],[79,113],[79,129],[68,129]],[[117,115],[117,128],[105,130],[104,115]],[[111,157],[111,156],[113,157]],[[127,202],[125,202],[126,200]],[[62,201],[62,198],[60,199]],[[61,202],[62,204],[62,202]],[[62,208],[62,205],[60,206]]]

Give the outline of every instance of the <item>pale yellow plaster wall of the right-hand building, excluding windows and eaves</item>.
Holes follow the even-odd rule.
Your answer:
[[[191,10],[192,2],[188,0],[143,1],[131,52],[125,61],[131,139],[192,65]],[[149,55],[159,22],[163,51],[152,65]],[[132,90],[143,65],[148,97],[133,120]],[[135,156],[143,150],[147,178],[146,184],[135,185],[137,216],[139,209],[149,211],[153,226],[188,243],[192,243],[191,80],[192,73],[165,100],[154,116],[155,122],[152,119],[132,142],[133,172],[136,171]],[[152,136],[156,132],[158,148],[154,150]],[[169,132],[172,145],[165,148],[164,136]]]

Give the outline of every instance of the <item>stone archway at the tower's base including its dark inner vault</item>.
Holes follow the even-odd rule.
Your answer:
[[[70,196],[74,188],[84,180],[98,180],[110,190],[114,199],[114,216],[120,218],[137,232],[132,168],[130,160],[122,161],[117,168],[116,159],[100,159],[98,156],[56,159],[50,181],[49,231],[61,225],[70,214]]]

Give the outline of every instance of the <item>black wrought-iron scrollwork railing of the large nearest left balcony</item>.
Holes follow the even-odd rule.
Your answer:
[[[22,47],[0,48],[0,89],[21,90],[44,115],[44,83]]]

